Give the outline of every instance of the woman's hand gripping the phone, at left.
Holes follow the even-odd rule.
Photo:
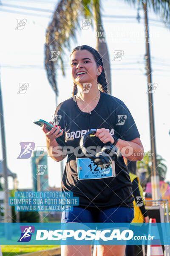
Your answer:
[[[51,125],[54,125],[52,122],[49,122],[49,123]],[[64,130],[62,129],[62,132],[59,134],[60,126],[54,125],[54,127],[50,131],[48,131],[45,128],[45,126],[46,126],[45,124],[42,125],[42,131],[45,133],[46,139],[49,140],[51,143],[55,140],[55,138],[62,136]]]

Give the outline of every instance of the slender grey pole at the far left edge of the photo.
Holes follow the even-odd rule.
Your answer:
[[[1,140],[2,140],[2,152],[3,152],[3,178],[4,178],[4,222],[9,223],[11,221],[11,206],[8,204],[9,198],[9,190],[8,190],[8,170],[6,164],[6,142],[5,142],[5,126],[3,120],[3,99],[1,92],[1,84],[0,84],[0,131],[1,131]]]

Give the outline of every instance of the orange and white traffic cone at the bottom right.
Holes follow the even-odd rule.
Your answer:
[[[156,223],[156,219],[150,218],[149,222]],[[156,224],[153,224],[153,226],[156,227]],[[156,229],[157,229],[157,227],[156,227]],[[157,231],[157,233],[159,233],[158,229],[156,231]],[[155,240],[160,241],[160,239],[155,239]],[[159,245],[153,245],[153,244],[149,245],[148,244],[147,245],[147,256],[164,256],[161,244],[159,244]]]

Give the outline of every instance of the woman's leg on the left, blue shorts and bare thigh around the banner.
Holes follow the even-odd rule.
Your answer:
[[[72,212],[62,212],[61,222],[90,223],[93,218],[87,209],[74,207]],[[61,256],[91,256],[91,245],[61,245]]]

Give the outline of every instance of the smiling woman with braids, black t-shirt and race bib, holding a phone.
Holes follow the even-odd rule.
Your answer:
[[[74,207],[73,211],[62,212],[61,222],[130,223],[134,218],[132,183],[122,155],[113,162],[115,173],[111,177],[97,178],[96,174],[95,178],[87,175],[85,179],[78,177],[76,157],[85,157],[79,149],[80,138],[88,131],[95,130],[95,136],[88,137],[85,143],[86,147],[93,146],[94,154],[105,143],[111,142],[119,147],[127,159],[142,160],[142,154],[141,157],[136,154],[143,153],[139,131],[125,104],[108,94],[102,58],[96,49],[87,45],[76,47],[71,53],[70,65],[73,96],[57,106],[55,116],[59,126],[54,126],[51,131],[45,125],[42,127],[49,156],[59,162],[68,154],[62,176],[62,191],[71,191],[79,197],[79,206]],[[62,155],[55,156],[56,146],[65,147],[60,149]],[[91,166],[85,169],[87,173],[92,173]],[[94,167],[100,172],[99,166]],[[125,254],[125,245],[98,247],[98,256]],[[61,249],[62,256],[91,256],[90,245],[62,245]]]

